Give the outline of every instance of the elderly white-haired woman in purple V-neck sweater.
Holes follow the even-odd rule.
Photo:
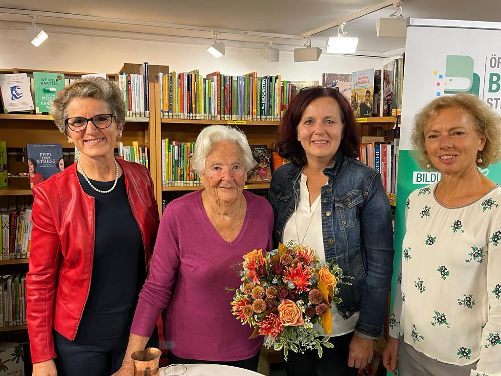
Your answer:
[[[129,345],[116,375],[132,375],[130,354],[144,348],[164,308],[169,361],[257,370],[262,338],[231,314],[240,278],[232,267],[253,249],[272,249],[273,211],[243,191],[255,165],[245,135],[212,125],[198,135],[193,167],[204,189],[169,203],[160,221],[150,274],[139,295]]]

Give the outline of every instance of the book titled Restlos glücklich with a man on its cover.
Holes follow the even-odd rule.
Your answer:
[[[374,68],[353,72],[351,105],[357,117],[372,117]]]

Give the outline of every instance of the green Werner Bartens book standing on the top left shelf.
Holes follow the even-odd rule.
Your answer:
[[[51,102],[64,89],[63,73],[34,72],[35,110],[37,114],[49,113]]]

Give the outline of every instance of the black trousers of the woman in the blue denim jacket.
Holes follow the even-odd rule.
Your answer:
[[[289,351],[285,369],[287,376],[356,376],[358,369],[348,366],[351,338],[354,332],[331,337],[334,347],[323,348],[323,355],[318,357],[317,350],[308,350],[304,354]]]

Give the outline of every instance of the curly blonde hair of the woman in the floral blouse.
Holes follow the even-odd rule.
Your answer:
[[[435,98],[416,114],[410,137],[413,154],[421,167],[426,168],[431,164],[425,147],[426,125],[436,117],[438,111],[453,107],[468,113],[474,131],[479,136],[485,136],[485,146],[481,152],[482,162],[477,165],[485,168],[489,164],[497,163],[501,159],[501,118],[474,95],[459,93]]]

